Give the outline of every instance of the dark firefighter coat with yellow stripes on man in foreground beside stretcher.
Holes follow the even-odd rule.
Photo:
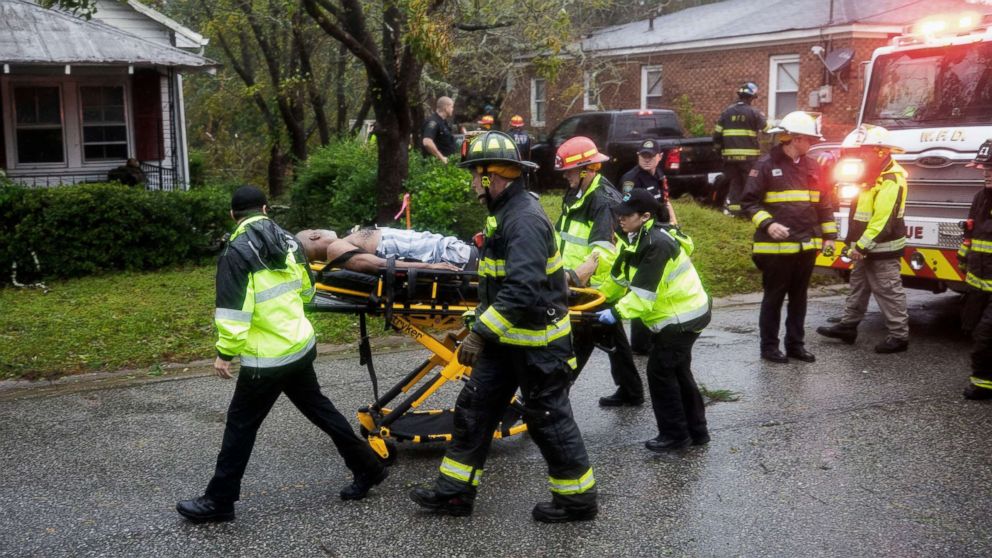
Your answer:
[[[505,345],[553,348],[572,359],[565,270],[541,204],[518,179],[489,213],[472,331]]]

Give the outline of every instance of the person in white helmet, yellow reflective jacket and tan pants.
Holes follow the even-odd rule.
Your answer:
[[[906,171],[892,159],[892,153],[903,150],[891,145],[888,135],[881,126],[862,124],[841,144],[841,168],[860,167],[858,183],[867,189],[851,202],[847,221],[847,257],[854,267],[844,316],[840,322],[816,330],[820,335],[854,343],[868,299],[874,295],[889,331],[885,341],[875,345],[875,352],[883,354],[909,347],[906,291],[899,274],[906,247]]]

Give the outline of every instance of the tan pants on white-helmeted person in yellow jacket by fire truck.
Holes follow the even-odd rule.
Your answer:
[[[865,317],[868,299],[875,295],[889,337],[909,338],[909,313],[906,311],[906,291],[899,275],[899,258],[864,259],[851,270],[851,294],[847,296],[841,325],[857,327]]]

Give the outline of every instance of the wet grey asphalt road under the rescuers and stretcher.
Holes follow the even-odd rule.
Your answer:
[[[401,446],[382,486],[342,502],[346,470],[332,445],[282,399],[260,432],[238,519],[194,526],[173,507],[209,480],[233,382],[8,398],[0,555],[992,555],[992,405],[960,397],[969,343],[956,332],[955,297],[911,293],[912,345],[891,356],[871,352],[883,337],[877,313],[853,347],[813,332],[841,303],[811,301],[815,364],[763,363],[753,299],[719,308],[696,345],[696,378],[742,397],[708,407],[713,441],[676,456],[643,448],[656,434],[648,406],[597,407],[612,386],[595,353],[573,391],[601,496],[591,523],[530,519],[547,492],[526,436],[495,442],[471,518],[433,517],[407,498],[436,474],[438,445]],[[423,354],[380,355],[383,383]],[[371,397],[354,357],[321,358],[318,375],[349,418]]]

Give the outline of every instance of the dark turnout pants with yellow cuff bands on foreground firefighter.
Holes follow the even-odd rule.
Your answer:
[[[493,432],[519,387],[527,430],[548,464],[552,499],[565,508],[594,506],[596,480],[568,401],[572,374],[548,349],[487,344],[455,402],[454,434],[435,491],[474,500]]]

